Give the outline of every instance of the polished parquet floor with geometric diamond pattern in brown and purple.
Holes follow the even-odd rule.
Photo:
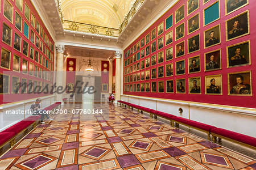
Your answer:
[[[72,111],[80,104],[64,104]],[[0,169],[256,169],[248,156],[114,104],[108,119],[52,115],[0,158]]]

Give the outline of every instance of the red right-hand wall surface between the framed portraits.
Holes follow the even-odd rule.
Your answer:
[[[140,41],[143,37],[145,37],[146,39],[146,35],[148,33],[151,32],[152,29],[156,28],[160,23],[166,22],[166,19],[168,18],[168,16],[170,16],[171,14],[173,14],[173,25],[171,28],[169,28],[167,31],[165,30],[164,27],[164,33],[162,35],[160,35],[158,37],[157,35],[157,31],[156,31],[156,39],[150,41],[149,44],[151,44],[152,42],[156,41],[156,46],[158,46],[158,38],[162,37],[163,35],[165,36],[166,33],[170,32],[171,30],[173,30],[174,32],[174,40],[171,44],[169,45],[165,45],[164,44],[164,48],[158,50],[156,48],[156,52],[154,53],[150,53],[149,57],[151,57],[152,55],[158,54],[158,52],[161,52],[162,50],[164,51],[164,58],[166,56],[166,52],[165,50],[167,48],[169,48],[170,46],[174,47],[174,58],[171,61],[165,61],[163,63],[160,64],[156,64],[155,66],[150,66],[147,69],[143,69],[143,70],[139,70],[139,71],[134,71],[133,73],[129,73],[126,75],[123,75],[123,77],[125,78],[125,76],[130,76],[133,74],[136,74],[138,72],[141,71],[146,71],[148,69],[153,69],[153,68],[157,68],[159,66],[163,66],[166,65],[168,63],[174,63],[174,76],[170,76],[170,77],[164,77],[164,78],[156,78],[153,80],[143,80],[143,81],[137,81],[137,82],[131,82],[131,83],[124,83],[123,86],[127,85],[127,84],[137,84],[137,83],[146,83],[146,82],[156,82],[156,86],[158,86],[157,82],[158,81],[166,81],[166,80],[174,80],[174,93],[170,94],[170,93],[159,93],[159,92],[127,92],[124,91],[123,94],[125,95],[136,95],[136,96],[146,96],[146,97],[158,97],[158,98],[163,98],[163,99],[174,99],[174,100],[184,100],[184,101],[194,101],[194,102],[200,102],[200,103],[209,103],[209,104],[220,104],[220,105],[231,105],[231,106],[236,106],[236,107],[248,107],[248,108],[256,108],[255,105],[255,95],[256,95],[256,84],[255,82],[255,71],[256,71],[256,67],[255,67],[255,55],[256,55],[256,50],[254,49],[254,47],[256,46],[256,41],[255,41],[255,36],[256,36],[256,30],[254,29],[254,25],[256,25],[256,13],[255,13],[255,7],[256,7],[256,1],[249,1],[249,5],[246,5],[228,15],[225,15],[225,1],[219,1],[220,2],[220,19],[216,20],[213,23],[210,23],[209,25],[206,25],[204,27],[204,9],[207,8],[208,6],[212,5],[214,2],[216,2],[215,0],[210,0],[209,2],[205,3],[203,5],[203,1],[199,1],[199,9],[195,10],[192,12],[192,14],[187,15],[187,1],[185,0],[181,0],[179,2],[177,2],[172,8],[170,8],[170,10],[168,10],[162,17],[160,17],[154,24],[152,24],[145,32],[142,33],[142,35],[139,35],[138,38],[131,43],[125,50],[124,50],[124,54],[127,52],[127,50],[131,49],[134,45],[137,44],[138,41]],[[182,5],[184,5],[184,19],[181,20],[180,22],[178,22],[177,24],[175,24],[175,11],[181,7]],[[237,39],[234,40],[230,40],[230,41],[226,41],[226,28],[225,28],[225,21],[233,18],[233,16],[236,16],[238,14],[241,14],[242,12],[249,10],[249,16],[250,16],[250,34],[249,35],[245,35],[242,37],[238,37]],[[192,16],[196,15],[197,13],[200,14],[200,29],[190,33],[188,35],[188,31],[187,31],[187,20],[190,19]],[[177,26],[179,26],[181,23],[185,24],[185,37],[179,39],[179,40],[175,40],[175,28]],[[205,49],[204,48],[204,31],[206,31],[209,28],[214,27],[215,25],[221,25],[221,44],[219,45],[215,45],[212,46],[210,48]],[[200,33],[200,50],[191,54],[188,54],[188,49],[187,49],[187,43],[188,43],[188,39],[199,34]],[[230,46],[233,44],[237,44],[239,42],[243,42],[243,41],[247,41],[250,40],[251,43],[251,65],[247,65],[247,66],[239,66],[239,67],[232,67],[232,68],[227,68],[227,59],[226,59],[226,46]],[[175,58],[175,44],[179,44],[180,42],[185,41],[185,56],[179,57],[179,58]],[[165,37],[164,37],[164,42],[165,42]],[[148,45],[148,44],[147,44]],[[143,46],[143,48],[140,48],[139,50],[137,50],[135,53],[133,53],[131,56],[134,56],[134,54],[137,54],[139,51],[141,51],[142,49],[145,49],[145,53],[146,53],[146,43]],[[215,71],[204,71],[204,54],[207,52],[211,52],[213,50],[217,50],[217,49],[221,49],[221,68],[220,70],[215,70]],[[199,73],[193,73],[193,74],[188,74],[188,58],[193,57],[193,56],[198,56],[200,55],[200,67],[201,67],[201,71]],[[130,56],[130,57],[131,57]],[[134,63],[137,62],[141,62],[142,60],[146,59],[148,56],[139,59],[136,62],[133,62],[132,65],[134,65]],[[124,59],[124,63],[123,66],[124,68],[130,67],[131,65],[128,65],[125,67],[125,61],[128,59],[125,58]],[[176,75],[175,74],[175,70],[176,70],[176,62],[180,61],[181,59],[185,59],[185,74],[184,75]],[[145,62],[146,63],[146,62]],[[190,65],[190,63],[189,63]],[[165,69],[165,67],[164,67]],[[248,71],[251,70],[251,96],[230,96],[228,95],[228,73],[236,73],[236,72],[240,72],[240,71]],[[125,71],[124,71],[125,72]],[[156,71],[157,73],[158,71]],[[165,73],[164,73],[165,74]],[[207,75],[217,75],[217,74],[221,74],[222,75],[222,95],[205,95],[205,76]],[[157,76],[157,74],[156,74]],[[189,94],[189,88],[188,88],[188,78],[193,78],[193,77],[197,77],[200,76],[201,77],[201,84],[197,84],[199,86],[201,86],[201,94]],[[146,77],[146,75],[145,75]],[[176,93],[176,79],[185,79],[185,94],[177,94]],[[123,87],[124,89],[124,87]],[[158,89],[158,88],[156,88]],[[164,91],[166,91],[166,83],[164,82]]]

